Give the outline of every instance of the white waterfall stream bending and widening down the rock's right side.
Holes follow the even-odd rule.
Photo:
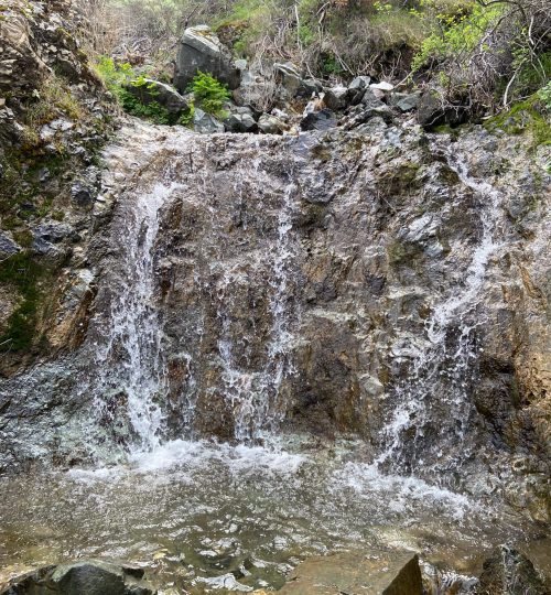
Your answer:
[[[469,391],[479,353],[476,327],[484,322],[473,314],[489,259],[501,246],[496,239],[503,219],[500,194],[468,174],[464,155],[447,147],[444,156],[479,201],[480,236],[461,286],[435,298],[424,337],[413,347],[408,374],[395,390],[395,409],[382,429],[383,447],[376,463],[402,473],[457,469],[471,454],[465,442],[473,414]]]

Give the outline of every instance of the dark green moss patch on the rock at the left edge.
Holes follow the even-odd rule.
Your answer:
[[[22,298],[0,336],[0,351],[24,351],[32,347],[41,301],[39,280],[44,272],[26,250],[0,263],[0,283],[12,285]]]

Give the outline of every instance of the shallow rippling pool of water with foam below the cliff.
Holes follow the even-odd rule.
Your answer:
[[[0,519],[0,584],[95,556],[192,593],[278,588],[309,555],[369,548],[418,550],[471,574],[494,545],[537,538],[504,507],[381,475],[347,441],[177,441],[116,467],[2,478]]]

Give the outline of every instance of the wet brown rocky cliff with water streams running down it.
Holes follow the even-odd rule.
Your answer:
[[[291,136],[127,120],[99,159],[68,11],[0,19],[1,469],[345,434],[548,518],[549,147],[377,99]]]

